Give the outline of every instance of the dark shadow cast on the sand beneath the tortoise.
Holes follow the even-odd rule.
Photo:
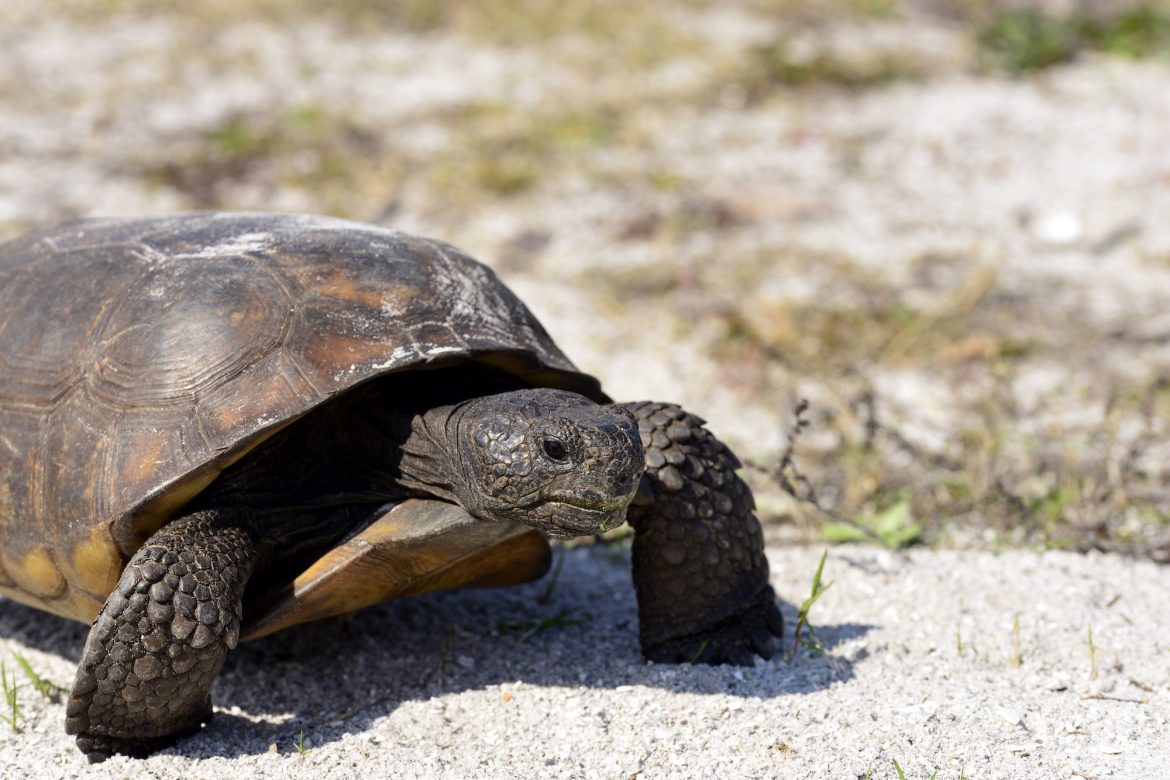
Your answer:
[[[558,554],[565,555],[564,571],[551,587],[546,579],[429,594],[241,644],[216,682],[215,717],[168,752],[235,757],[273,745],[289,751],[301,731],[319,747],[360,733],[404,702],[519,681],[759,699],[801,696],[848,682],[855,660],[833,649],[873,628],[817,626],[827,654],[793,651],[796,608],[782,601],[786,635],[771,661],[748,668],[647,663],[638,647],[628,554],[589,548]],[[87,633],[80,623],[0,599],[0,636],[19,644],[76,662]]]

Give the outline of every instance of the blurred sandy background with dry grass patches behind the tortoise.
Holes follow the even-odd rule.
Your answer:
[[[0,237],[433,235],[777,538],[1170,560],[1164,2],[6,0],[0,65]]]

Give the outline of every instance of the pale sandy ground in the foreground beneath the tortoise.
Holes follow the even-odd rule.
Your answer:
[[[820,552],[769,551],[790,627]],[[642,662],[627,562],[577,548],[543,603],[546,582],[440,594],[243,646],[211,725],[144,761],[88,767],[18,672],[0,775],[1170,776],[1165,567],[837,547],[813,609],[828,654],[734,669]],[[556,615],[583,622],[505,629]],[[0,653],[54,682],[84,631],[0,602]]]

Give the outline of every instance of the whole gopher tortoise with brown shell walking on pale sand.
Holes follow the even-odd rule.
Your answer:
[[[240,639],[529,581],[622,520],[647,658],[770,657],[737,467],[438,241],[201,213],[0,246],[0,594],[92,621],[66,720],[92,761],[198,730]]]

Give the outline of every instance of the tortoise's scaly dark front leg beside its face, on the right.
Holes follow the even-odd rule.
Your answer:
[[[642,655],[748,665],[783,634],[764,537],[739,461],[673,403],[621,405],[638,419],[646,472],[627,513]]]

